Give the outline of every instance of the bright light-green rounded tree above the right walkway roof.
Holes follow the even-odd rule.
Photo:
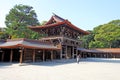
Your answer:
[[[111,48],[112,43],[119,40],[120,37],[120,20],[113,20],[96,30],[95,41],[107,43],[108,47]]]

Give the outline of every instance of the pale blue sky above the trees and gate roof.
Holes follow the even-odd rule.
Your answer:
[[[120,0],[2,0],[0,27],[5,27],[5,16],[16,4],[32,6],[39,22],[55,13],[83,30],[120,19]]]

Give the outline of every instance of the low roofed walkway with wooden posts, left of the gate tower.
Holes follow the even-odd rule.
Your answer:
[[[0,62],[36,62],[57,59],[60,47],[38,40],[0,41]]]

